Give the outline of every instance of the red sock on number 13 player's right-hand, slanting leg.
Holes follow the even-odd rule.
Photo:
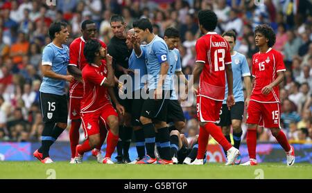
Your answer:
[[[223,147],[223,149],[225,149],[225,151],[232,147],[227,138],[225,138],[223,135],[221,129],[214,125],[214,123],[207,122],[205,129],[211,135],[211,137],[213,137]]]

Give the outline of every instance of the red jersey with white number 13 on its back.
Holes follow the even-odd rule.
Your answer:
[[[196,42],[196,62],[205,65],[200,74],[199,95],[223,101],[225,65],[232,64],[227,41],[215,32],[200,37]]]

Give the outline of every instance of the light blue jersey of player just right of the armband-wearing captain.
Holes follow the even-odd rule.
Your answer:
[[[166,77],[165,88],[166,90],[173,90],[170,99],[177,100],[173,75],[175,75],[175,72],[182,71],[181,56],[180,56],[180,51],[178,49],[174,48],[173,50],[169,50],[168,62],[169,62],[169,69],[168,69],[168,74]]]

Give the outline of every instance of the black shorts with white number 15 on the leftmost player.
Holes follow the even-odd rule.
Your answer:
[[[40,92],[40,109],[43,122],[67,123],[68,107],[66,95]]]

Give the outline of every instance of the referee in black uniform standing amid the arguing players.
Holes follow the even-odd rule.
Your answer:
[[[115,69],[115,76],[119,79],[121,75],[128,75],[133,73],[128,69],[129,58],[132,50],[125,44],[125,21],[121,15],[112,15],[110,18],[110,27],[114,36],[110,39],[110,44],[107,46],[107,52],[113,57],[113,67]],[[119,88],[114,89],[117,100],[125,107],[125,115],[123,116],[119,126],[119,143],[117,145],[117,163],[130,163],[129,148],[132,138],[131,127],[131,101],[128,99],[121,100],[119,97]]]

